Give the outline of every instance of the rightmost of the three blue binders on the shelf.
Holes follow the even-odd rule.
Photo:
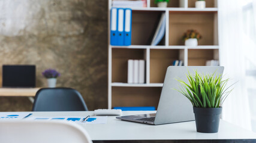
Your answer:
[[[132,11],[130,8],[125,8],[125,39],[124,39],[124,45],[129,46],[131,45],[131,17],[132,17]]]

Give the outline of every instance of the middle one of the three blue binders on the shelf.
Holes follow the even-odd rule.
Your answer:
[[[125,21],[125,10],[124,8],[118,8],[118,36],[116,45],[124,45],[124,21]]]

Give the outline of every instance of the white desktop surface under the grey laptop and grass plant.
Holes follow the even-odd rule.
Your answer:
[[[28,112],[29,113],[29,112]],[[124,111],[123,115],[155,113],[154,111]],[[88,116],[93,111],[73,112],[34,112],[32,116]],[[146,125],[126,122],[109,116],[107,124],[81,125],[92,140],[198,140],[198,139],[255,139],[256,133],[239,128],[221,120],[218,133],[198,133],[195,122],[173,123],[167,125]]]

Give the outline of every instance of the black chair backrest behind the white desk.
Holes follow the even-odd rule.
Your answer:
[[[42,88],[32,111],[88,111],[82,95],[72,88]]]

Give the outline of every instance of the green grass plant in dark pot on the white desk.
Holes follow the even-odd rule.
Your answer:
[[[216,133],[219,129],[219,118],[222,112],[222,103],[230,91],[225,88],[229,79],[222,79],[221,74],[188,73],[189,83],[177,79],[181,83],[179,91],[193,105],[197,132]],[[231,85],[232,86],[232,85]]]

